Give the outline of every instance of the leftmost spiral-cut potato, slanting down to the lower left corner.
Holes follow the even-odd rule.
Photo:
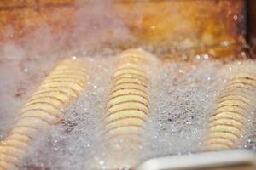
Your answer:
[[[37,134],[61,121],[61,109],[84,89],[84,61],[65,59],[36,89],[0,143],[0,170],[14,169]]]

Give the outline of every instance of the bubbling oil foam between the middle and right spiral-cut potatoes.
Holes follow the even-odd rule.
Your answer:
[[[221,90],[237,72],[255,71],[255,64],[253,61],[172,63],[155,71],[145,155],[192,154],[203,150],[209,116],[218,106]],[[248,134],[252,134],[249,123],[252,116],[253,113],[247,117]],[[244,134],[243,140],[247,139]]]

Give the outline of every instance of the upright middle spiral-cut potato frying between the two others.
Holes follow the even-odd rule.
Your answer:
[[[141,66],[145,63],[147,59],[141,50],[130,49],[120,56],[104,119],[108,141],[140,142],[149,114],[148,75]]]

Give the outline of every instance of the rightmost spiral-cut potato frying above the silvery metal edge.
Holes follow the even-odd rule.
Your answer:
[[[255,107],[256,77],[239,73],[218,98],[218,109],[210,118],[206,139],[207,150],[236,148],[241,142],[247,116]]]

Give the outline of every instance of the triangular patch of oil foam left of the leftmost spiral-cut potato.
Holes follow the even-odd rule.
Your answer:
[[[15,122],[26,99],[53,69],[54,60],[20,59],[13,55],[0,59],[0,139]]]

